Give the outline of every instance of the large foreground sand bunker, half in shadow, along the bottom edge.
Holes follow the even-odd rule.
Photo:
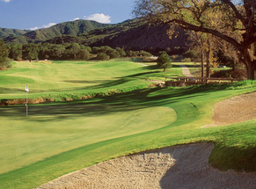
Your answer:
[[[220,172],[208,158],[213,145],[180,145],[102,162],[38,188],[256,188],[256,173]]]

